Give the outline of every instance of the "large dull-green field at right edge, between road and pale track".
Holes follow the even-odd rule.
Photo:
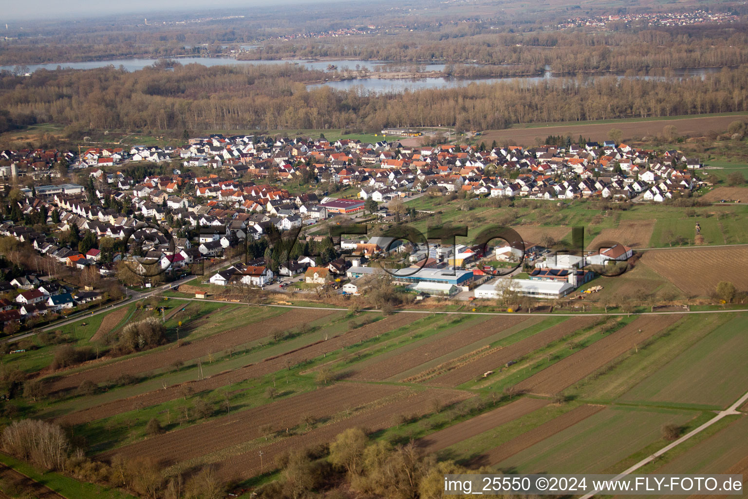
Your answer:
[[[733,317],[631,388],[620,400],[728,407],[746,391],[746,331],[748,315]]]

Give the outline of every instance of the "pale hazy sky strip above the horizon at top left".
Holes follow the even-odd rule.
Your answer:
[[[220,12],[221,15],[241,15],[236,7],[264,7],[276,4],[310,3],[313,0],[223,0],[218,4],[204,0],[24,0],[6,1],[0,13],[0,24],[22,19],[50,19],[101,17],[111,14],[131,14],[147,17],[147,13],[167,12],[187,13],[191,10]]]

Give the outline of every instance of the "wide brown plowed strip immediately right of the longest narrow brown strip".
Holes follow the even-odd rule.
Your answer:
[[[463,330],[463,328],[458,328],[458,331],[449,336],[441,337],[438,340],[429,340],[429,338],[426,338],[420,340],[420,343],[423,344],[415,349],[385,358],[360,370],[353,370],[348,376],[352,379],[387,379],[391,376],[396,376],[398,373],[417,367],[424,362],[433,361],[435,358],[447,355],[456,349],[470,345],[470,343],[500,333],[525,319],[526,317],[519,316],[500,316],[495,319],[488,319],[478,325],[473,325],[467,331]]]

